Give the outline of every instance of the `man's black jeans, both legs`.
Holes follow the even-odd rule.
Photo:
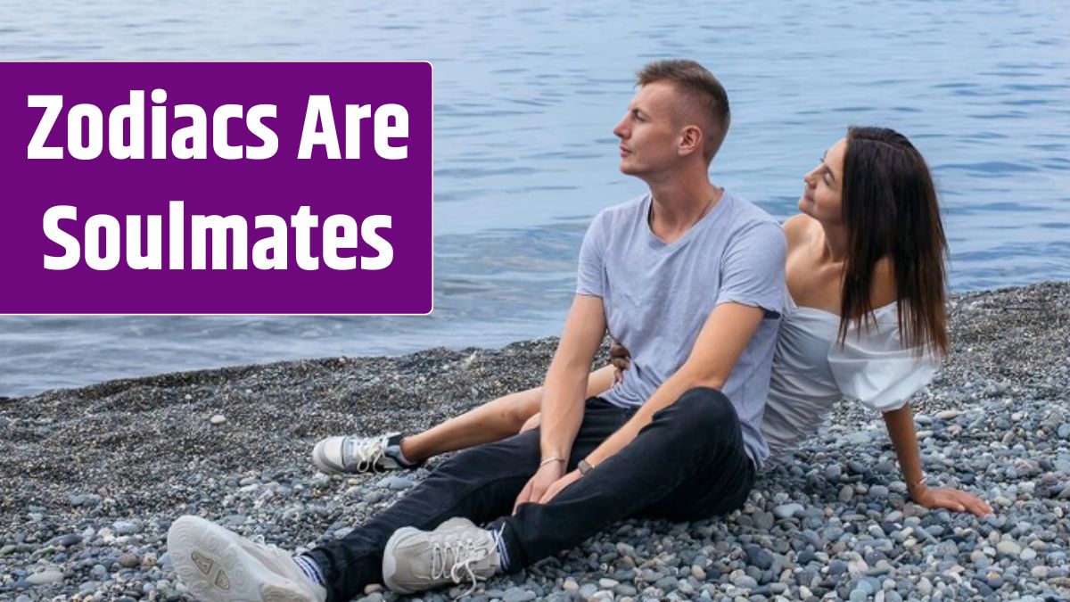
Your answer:
[[[587,400],[567,469],[633,413]],[[460,452],[364,527],[309,552],[327,582],[327,599],[349,600],[381,583],[383,548],[400,527],[433,529],[454,516],[477,524],[501,518],[509,568],[520,570],[627,516],[690,521],[730,512],[754,483],[735,408],[715,389],[688,391],[550,503],[525,503],[508,516],[539,453],[538,430]]]

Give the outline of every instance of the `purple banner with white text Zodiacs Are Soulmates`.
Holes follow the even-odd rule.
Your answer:
[[[431,65],[0,63],[0,313],[426,314]]]

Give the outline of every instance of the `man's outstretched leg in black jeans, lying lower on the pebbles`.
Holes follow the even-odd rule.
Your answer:
[[[574,449],[590,453],[630,415],[600,400],[588,401]],[[349,600],[366,585],[381,583],[383,550],[401,527],[433,529],[458,516],[482,524],[508,514],[538,462],[538,430],[472,448],[444,462],[370,523],[308,553],[323,573],[328,599]]]

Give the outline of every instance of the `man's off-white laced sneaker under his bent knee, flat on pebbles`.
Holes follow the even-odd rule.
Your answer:
[[[402,527],[383,552],[383,583],[398,593],[490,578],[501,567],[494,537],[468,518],[450,518],[433,531]]]

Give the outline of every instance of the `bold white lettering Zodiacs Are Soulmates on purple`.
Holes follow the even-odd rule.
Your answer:
[[[197,161],[209,159],[211,152],[215,157],[228,161],[263,161],[278,153],[278,134],[266,122],[278,116],[276,105],[258,104],[246,109],[239,104],[224,104],[215,107],[210,116],[209,111],[196,104],[167,106],[167,92],[164,89],[152,90],[149,96],[151,106],[147,124],[143,90],[132,90],[129,103],[112,107],[107,115],[101,107],[89,103],[65,108],[62,95],[29,94],[27,106],[43,108],[44,112],[27,145],[27,157],[47,161],[70,156],[93,161],[107,153],[112,159],[126,161]],[[61,120],[66,123],[66,144],[48,146],[48,138]],[[336,125],[330,95],[309,95],[296,159],[312,159],[317,147],[322,149],[328,160],[361,159],[362,122],[364,127],[371,126],[373,148],[379,157],[400,161],[409,156],[409,112],[404,106],[347,104],[339,121],[341,120],[341,125]],[[246,133],[256,138],[259,145],[230,144],[232,121],[244,123]],[[182,126],[169,127],[178,124]],[[150,134],[148,149],[144,135],[147,125]],[[210,267],[213,270],[246,270],[250,265],[258,270],[290,269],[288,247],[291,230],[294,262],[301,270],[320,269],[320,258],[311,252],[312,236],[317,229],[322,237],[321,253],[327,269],[382,270],[393,261],[394,247],[380,234],[380,230],[392,227],[391,215],[368,215],[357,224],[353,216],[339,213],[326,216],[321,224],[319,215],[312,213],[311,208],[306,205],[288,217],[273,214],[254,216],[251,227],[270,230],[271,234],[259,238],[250,250],[250,224],[245,216],[187,216],[182,200],[170,200],[167,210],[166,269],[186,269],[187,222],[189,269],[193,270],[205,270]],[[146,223],[143,243],[142,219]],[[81,231],[77,232],[80,240],[79,236],[68,231],[71,228],[61,227],[64,222],[73,222],[74,230],[77,230],[79,217],[75,206],[56,205],[44,212],[45,236],[63,249],[62,255],[44,256],[45,269],[70,270],[85,261],[93,270],[111,270],[124,259],[135,270],[165,269],[163,214],[143,217],[126,215],[125,224],[107,213],[90,215],[82,222]],[[212,241],[211,261],[208,258],[209,239]],[[229,247],[228,240],[232,241],[232,247]],[[361,242],[369,245],[377,255],[339,255],[339,251],[351,252],[357,249]]]

